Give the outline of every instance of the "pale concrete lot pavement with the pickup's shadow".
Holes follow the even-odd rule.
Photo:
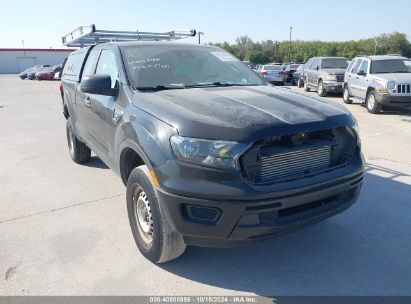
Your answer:
[[[411,295],[411,112],[349,106],[368,168],[345,213],[156,266],[134,244],[120,178],[69,158],[57,87],[0,76],[0,294]]]

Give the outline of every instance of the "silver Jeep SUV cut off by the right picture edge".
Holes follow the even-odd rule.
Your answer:
[[[398,55],[354,58],[344,76],[344,102],[360,101],[373,114],[382,106],[411,106],[408,61]]]

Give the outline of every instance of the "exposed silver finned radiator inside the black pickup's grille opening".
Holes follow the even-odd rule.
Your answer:
[[[330,167],[331,146],[261,157],[260,180],[298,178]]]

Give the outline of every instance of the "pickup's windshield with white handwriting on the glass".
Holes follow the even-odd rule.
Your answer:
[[[184,45],[122,46],[128,78],[137,89],[217,85],[262,85],[264,81],[233,55]]]

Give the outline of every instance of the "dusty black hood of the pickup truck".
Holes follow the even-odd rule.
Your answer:
[[[343,106],[269,86],[137,92],[133,103],[180,135],[204,139],[248,143],[353,124]]]

